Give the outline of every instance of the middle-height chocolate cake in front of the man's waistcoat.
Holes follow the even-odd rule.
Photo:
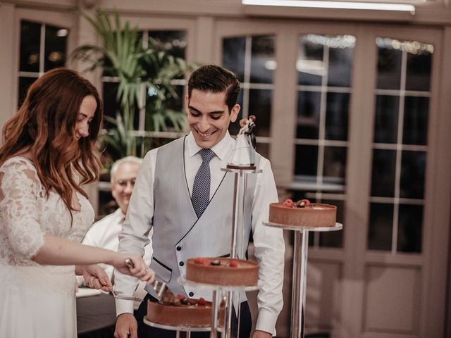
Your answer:
[[[256,286],[259,263],[233,258],[190,258],[187,260],[186,279],[230,287]]]

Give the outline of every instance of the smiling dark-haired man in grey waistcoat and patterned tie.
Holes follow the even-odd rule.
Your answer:
[[[217,65],[204,65],[192,73],[185,96],[190,134],[153,149],[145,156],[137,176],[120,236],[119,251],[144,253],[149,243],[147,234],[153,227],[152,269],[156,279],[168,283],[174,294],[211,300],[211,289],[178,284],[185,275],[187,258],[196,256],[226,256],[230,253],[234,175],[221,171],[233,154],[235,140],[228,133],[240,111],[236,103],[240,82],[235,74]],[[204,153],[210,154],[208,159]],[[282,284],[285,244],[282,230],[262,224],[268,218],[269,204],[278,201],[271,163],[256,154],[255,165],[262,173],[249,175],[246,192],[247,210],[251,211],[245,226],[245,248],[237,250],[245,258],[249,234],[254,238],[254,253],[259,261],[259,314],[253,338],[271,337],[283,306]],[[210,184],[199,184],[200,167],[209,171]],[[208,182],[208,181],[206,181]],[[201,199],[194,198],[200,185],[209,186]],[[116,272],[115,290],[133,294],[137,281]],[[116,299],[116,338],[175,337],[173,331],[149,327],[142,323],[147,312],[149,294],[132,315],[132,301]],[[240,305],[240,337],[249,337],[252,323],[245,294]],[[235,318],[235,322],[237,322]],[[233,324],[233,328],[237,323]],[[203,334],[203,335],[202,335]],[[209,337],[209,333],[194,333],[192,337]]]

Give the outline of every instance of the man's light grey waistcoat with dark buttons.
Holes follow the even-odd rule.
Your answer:
[[[230,256],[235,174],[223,171],[216,173],[223,180],[216,192],[212,193],[204,213],[197,219],[185,177],[184,147],[185,138],[182,137],[162,146],[156,154],[152,237],[154,253],[151,268],[156,273],[156,279],[167,282],[175,295],[186,294],[192,298],[211,300],[211,289],[183,286],[178,283],[178,277],[185,277],[188,258]],[[229,149],[226,158],[230,158],[232,151]],[[258,165],[260,156],[257,157]],[[237,243],[245,239],[242,250],[237,249],[240,258],[244,258],[249,242],[250,211],[257,180],[257,175],[247,176],[245,210],[249,212],[245,215],[244,236],[238,234],[237,238]],[[238,223],[242,224],[240,220]],[[146,287],[146,290],[155,296],[152,287]]]

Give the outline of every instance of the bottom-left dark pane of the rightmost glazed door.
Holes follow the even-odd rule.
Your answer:
[[[371,203],[369,211],[368,249],[392,249],[393,204]]]

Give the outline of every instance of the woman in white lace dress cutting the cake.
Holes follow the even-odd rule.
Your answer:
[[[142,257],[80,244],[94,211],[81,185],[97,180],[102,107],[73,70],[32,84],[0,148],[0,337],[77,337],[75,274],[112,285],[96,263],[148,283]],[[134,268],[127,268],[130,258]]]

